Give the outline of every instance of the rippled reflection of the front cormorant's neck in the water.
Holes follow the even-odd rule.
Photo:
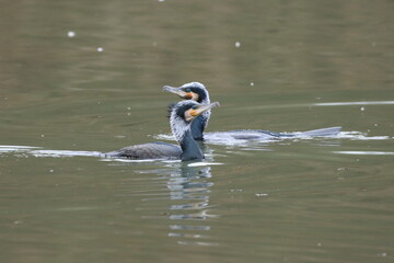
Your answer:
[[[204,162],[201,163],[204,164]],[[208,235],[211,230],[209,219],[218,217],[211,214],[209,204],[210,167],[190,167],[187,163],[171,163],[169,169],[140,171],[141,173],[157,173],[167,179],[171,205],[165,213],[174,220],[170,224],[169,237],[176,238],[178,244],[218,245],[211,242]]]

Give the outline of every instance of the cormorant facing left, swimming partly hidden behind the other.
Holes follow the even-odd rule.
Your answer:
[[[181,87],[164,85],[163,91],[171,92],[181,96],[184,100],[192,100],[199,103],[210,103],[209,92],[206,87],[200,82],[189,82]],[[170,104],[170,111],[173,104]],[[262,129],[241,129],[229,132],[215,132],[204,134],[210,118],[210,111],[206,111],[200,116],[196,117],[192,123],[192,134],[194,139],[210,141],[222,141],[223,139],[235,140],[259,140],[259,139],[275,139],[275,138],[289,138],[289,137],[322,137],[337,135],[341,127],[329,127],[313,129],[302,133],[275,133]]]

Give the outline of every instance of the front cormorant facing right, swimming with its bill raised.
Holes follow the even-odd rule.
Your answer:
[[[179,146],[162,141],[148,142],[111,151],[105,153],[105,156],[128,159],[202,160],[204,155],[192,136],[192,121],[217,106],[219,106],[219,102],[200,104],[188,100],[181,101],[172,107],[170,126]]]

